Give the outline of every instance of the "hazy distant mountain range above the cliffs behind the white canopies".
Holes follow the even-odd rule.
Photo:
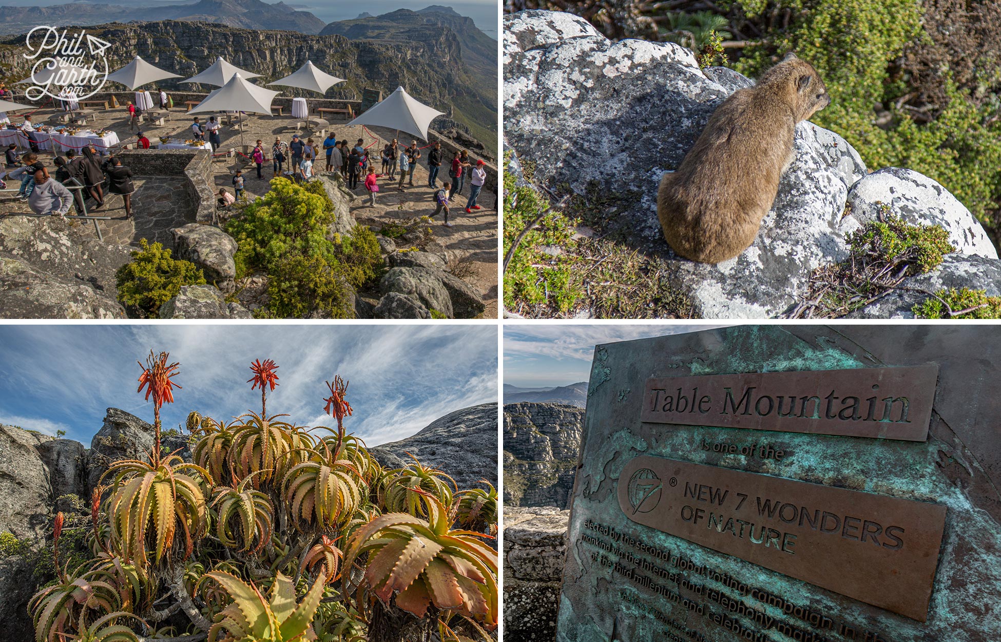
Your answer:
[[[290,29],[318,33],[323,21],[308,11],[284,3],[261,0],[201,0],[194,4],[135,6],[74,2],[48,7],[3,7],[0,33],[26,33],[37,25],[102,24],[109,16],[118,22],[147,20],[201,20],[244,29]]]

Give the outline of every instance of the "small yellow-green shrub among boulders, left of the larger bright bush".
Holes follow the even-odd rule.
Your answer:
[[[177,294],[183,285],[203,285],[205,277],[194,263],[171,258],[161,243],[152,245],[143,238],[132,260],[115,272],[118,300],[129,315],[156,318],[160,305]]]

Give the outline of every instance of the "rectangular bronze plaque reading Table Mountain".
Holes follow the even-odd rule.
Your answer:
[[[641,421],[924,442],[938,366],[647,380]]]

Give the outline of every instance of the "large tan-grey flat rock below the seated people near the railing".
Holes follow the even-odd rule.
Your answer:
[[[0,316],[124,318],[115,270],[130,248],[85,235],[64,218],[0,219]]]

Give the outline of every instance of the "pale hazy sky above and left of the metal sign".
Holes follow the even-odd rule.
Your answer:
[[[504,331],[504,383],[519,388],[547,388],[586,382],[591,377],[595,346],[599,344],[719,327],[696,324],[507,326]]]

